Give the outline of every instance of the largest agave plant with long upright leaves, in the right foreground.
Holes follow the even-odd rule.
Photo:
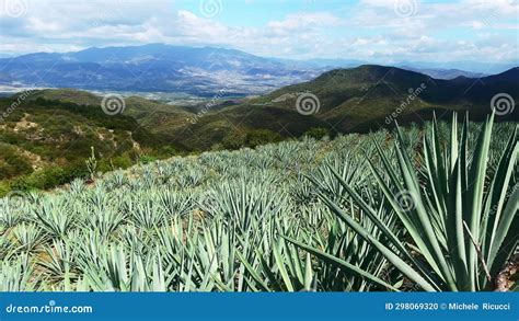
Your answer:
[[[424,137],[423,168],[408,153],[400,129],[394,162],[376,145],[383,172],[370,161],[371,173],[388,202],[385,215],[394,213],[400,226],[387,226],[377,215],[377,208],[334,171],[359,210],[377,225],[380,236],[367,230],[326,195],[321,196],[358,238],[372,244],[417,287],[428,291],[492,289],[498,272],[517,249],[519,229],[519,191],[510,184],[517,171],[517,127],[501,150],[497,167],[488,169],[492,127],[493,116],[485,122],[475,146],[469,150],[468,118],[460,138],[454,115],[449,147],[441,144],[435,122],[429,136]],[[411,242],[401,241],[400,229],[404,229]],[[299,245],[380,283],[372,274],[366,275],[339,257]]]

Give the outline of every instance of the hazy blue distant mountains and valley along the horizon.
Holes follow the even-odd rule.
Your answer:
[[[89,48],[71,53],[36,53],[0,59],[0,85],[73,88],[101,91],[181,92],[211,96],[265,94],[284,85],[314,79],[336,68],[354,68],[367,61],[348,59],[287,60],[264,58],[235,49],[184,47],[163,44]],[[400,62],[396,67],[437,79],[478,78],[508,66],[477,71],[443,64]]]

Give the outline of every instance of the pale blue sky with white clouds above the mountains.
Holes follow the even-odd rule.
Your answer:
[[[165,43],[291,59],[519,60],[519,0],[0,3],[0,56]]]

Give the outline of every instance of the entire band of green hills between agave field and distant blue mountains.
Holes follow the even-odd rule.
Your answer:
[[[0,98],[0,194],[2,184],[48,188],[84,175],[91,147],[100,157],[100,170],[106,171],[149,157],[255,147],[308,135],[365,133],[394,122],[419,124],[431,119],[432,113],[446,119],[453,111],[469,112],[477,121],[492,113],[492,104],[497,121],[518,122],[519,68],[483,78],[442,80],[366,65],[326,71],[261,96],[222,95],[197,105],[125,96],[122,113],[106,115],[102,101],[73,89]]]

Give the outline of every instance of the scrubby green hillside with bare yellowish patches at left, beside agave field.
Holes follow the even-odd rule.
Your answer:
[[[95,98],[77,94],[73,100]],[[100,107],[66,102],[65,95],[60,99],[38,96],[20,105],[13,105],[15,98],[0,99],[0,193],[48,188],[84,176],[91,147],[101,171],[127,168],[143,154],[168,157],[176,152],[174,146],[134,117],[107,117]]]

